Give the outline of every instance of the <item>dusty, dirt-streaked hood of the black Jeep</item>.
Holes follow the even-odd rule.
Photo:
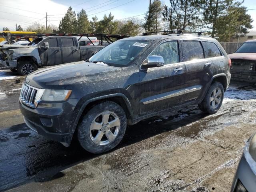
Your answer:
[[[47,67],[29,74],[26,81],[37,88],[66,88],[70,84],[80,84],[116,76],[122,68],[85,61]]]

